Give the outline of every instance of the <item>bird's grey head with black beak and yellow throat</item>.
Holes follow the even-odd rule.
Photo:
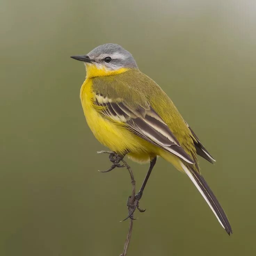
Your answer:
[[[87,55],[75,55],[71,58],[85,63],[87,77],[119,74],[138,68],[129,51],[114,43],[100,45]]]

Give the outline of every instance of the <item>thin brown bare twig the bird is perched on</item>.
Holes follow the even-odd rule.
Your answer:
[[[111,154],[113,152],[111,151],[99,151],[97,153],[106,153],[106,154]],[[130,178],[131,178],[131,186],[132,186],[132,192],[131,195],[128,198],[127,201],[127,207],[128,207],[128,214],[130,215],[131,211],[133,211],[133,205],[134,205],[134,201],[135,201],[135,192],[136,192],[136,187],[135,187],[135,179],[133,176],[133,171],[131,170],[131,167],[127,164],[127,162],[125,160],[121,160],[121,162],[126,166],[127,170],[129,171],[130,174]],[[128,246],[130,243],[130,239],[131,239],[131,232],[133,230],[133,215],[130,216],[130,223],[129,223],[129,229],[128,229],[128,234],[126,236],[126,241],[125,241],[125,246],[123,247],[123,252],[120,254],[120,256],[126,256],[127,255],[127,250],[128,250]]]

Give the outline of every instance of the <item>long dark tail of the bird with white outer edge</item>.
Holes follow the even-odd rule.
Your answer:
[[[222,227],[226,230],[226,232],[229,235],[232,234],[232,229],[229,220],[227,219],[224,210],[222,209],[213,191],[211,191],[203,176],[201,176],[193,169],[187,168],[183,163],[181,163],[181,165],[185,173],[190,177],[191,181],[195,184],[203,198],[210,206],[211,210],[217,217],[219,223],[222,225]]]

